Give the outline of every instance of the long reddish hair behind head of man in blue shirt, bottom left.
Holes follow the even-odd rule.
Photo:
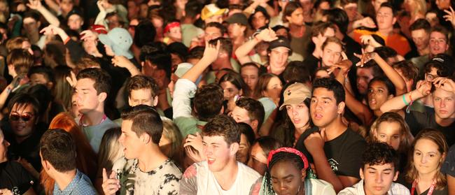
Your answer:
[[[71,134],[76,143],[76,167],[79,171],[87,175],[90,180],[94,181],[95,174],[97,173],[97,154],[93,151],[92,146],[90,146],[83,131],[79,128],[73,117],[68,113],[59,113],[50,122],[49,129],[63,129]],[[40,178],[45,194],[52,194],[55,180],[50,178],[43,170],[41,171]]]

